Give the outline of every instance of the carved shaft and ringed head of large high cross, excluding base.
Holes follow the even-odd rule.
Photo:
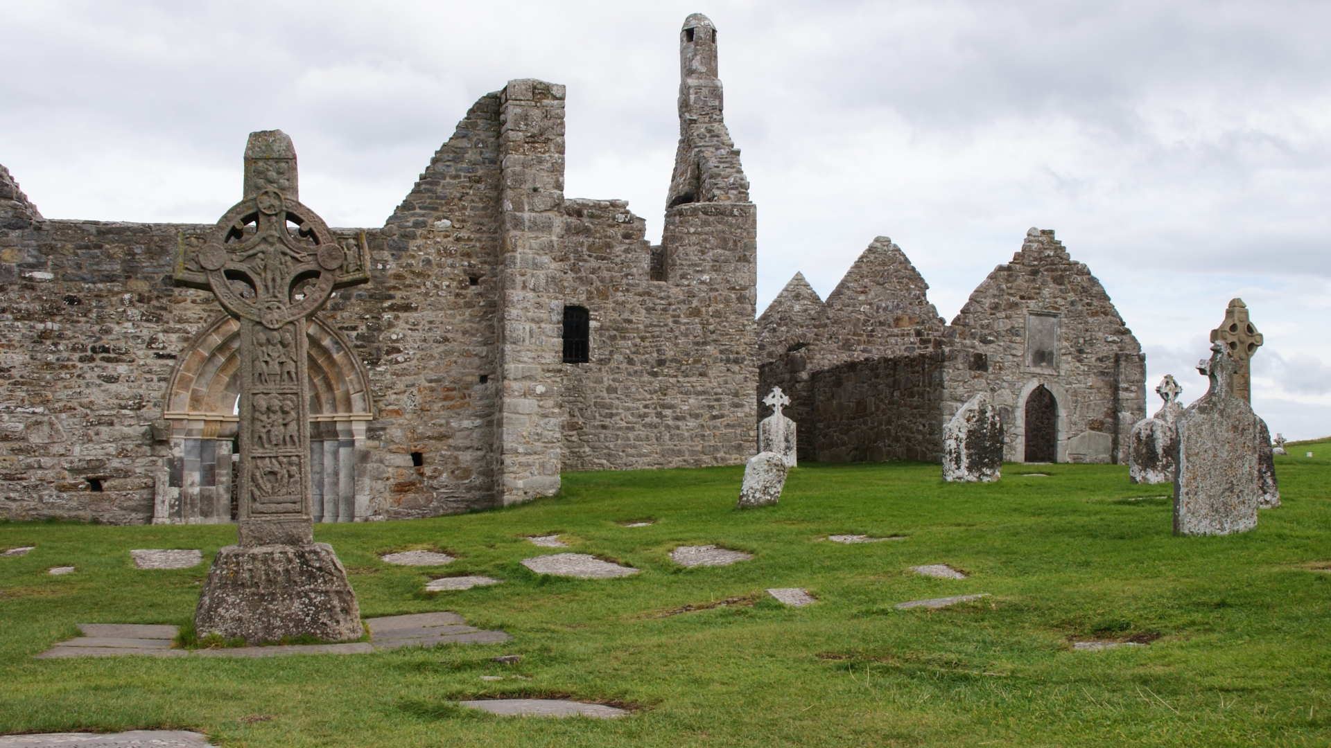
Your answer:
[[[305,331],[334,289],[367,280],[362,268],[301,204],[291,138],[250,133],[244,200],[176,266],[177,285],[213,291],[240,321],[241,547],[313,542]]]

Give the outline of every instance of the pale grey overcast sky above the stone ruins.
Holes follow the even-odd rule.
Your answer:
[[[1331,434],[1331,4],[0,0],[0,164],[48,218],[213,222],[250,130],[301,198],[378,226],[467,106],[568,85],[570,197],[660,236],[677,32],[719,29],[759,205],[759,311],[892,237],[948,321],[1030,226],[1090,265],[1183,401],[1225,306],[1266,346],[1254,407]],[[1159,399],[1150,394],[1154,413]]]

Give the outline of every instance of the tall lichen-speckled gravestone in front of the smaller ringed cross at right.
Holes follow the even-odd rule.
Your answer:
[[[1260,419],[1234,395],[1230,379],[1239,362],[1225,343],[1211,343],[1210,361],[1197,369],[1211,385],[1178,419],[1174,532],[1243,532],[1256,527]]]

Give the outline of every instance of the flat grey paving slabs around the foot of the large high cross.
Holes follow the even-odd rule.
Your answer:
[[[282,655],[362,655],[399,647],[434,644],[491,644],[512,639],[503,631],[480,631],[467,626],[458,614],[433,612],[366,619],[369,642],[346,644],[286,644],[274,647],[225,647],[220,650],[172,650],[174,626],[80,623],[83,636],[61,642],[36,656],[39,660],[65,657],[110,657],[149,655],[157,657],[277,657]],[[3,744],[0,744],[3,748]]]

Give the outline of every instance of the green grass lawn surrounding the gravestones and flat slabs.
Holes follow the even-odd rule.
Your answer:
[[[222,747],[358,748],[1328,745],[1331,574],[1316,567],[1331,566],[1331,442],[1290,447],[1276,458],[1284,506],[1227,538],[1174,538],[1169,486],[1073,465],[1009,465],[998,483],[969,486],[942,483],[936,465],[809,465],[779,506],[748,511],[735,510],[743,467],[579,472],[559,498],[510,510],[315,526],[366,618],[447,610],[514,636],[374,655],[33,660],[76,623],[189,620],[236,528],[0,524],[0,550],[37,547],[0,559],[0,733],[188,728]],[[1034,471],[1051,475],[1021,475]],[[618,524],[635,519],[656,523]],[[643,571],[572,580],[519,566],[560,552],[522,538],[552,532]],[[707,543],[755,558],[692,570],[667,558]],[[202,548],[205,566],[136,571],[132,548]],[[377,558],[411,548],[459,560]],[[908,571],[932,563],[972,576]],[[77,572],[47,575],[53,566]],[[427,571],[506,583],[427,594]],[[819,603],[787,608],[768,587],[805,587]],[[892,607],[973,592],[992,598]],[[1073,651],[1078,638],[1153,643]],[[522,663],[488,660],[507,654]],[[500,719],[451,704],[499,695],[636,712]]]

